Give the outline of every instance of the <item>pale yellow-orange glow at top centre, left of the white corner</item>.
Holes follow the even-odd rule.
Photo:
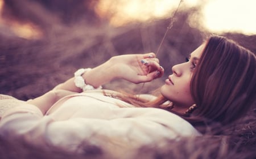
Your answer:
[[[183,7],[193,6],[197,4],[198,0],[183,0],[182,2]],[[101,16],[111,16],[110,24],[118,26],[134,20],[144,21],[170,17],[179,3],[180,0],[101,0],[96,11]]]

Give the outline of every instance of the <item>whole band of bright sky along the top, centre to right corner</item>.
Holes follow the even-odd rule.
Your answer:
[[[122,25],[130,20],[170,17],[180,0],[119,0],[100,1],[99,13],[113,16],[113,25]],[[255,0],[183,0],[181,7],[202,6],[201,23],[211,32],[241,32],[256,34]],[[112,12],[110,12],[112,11]]]

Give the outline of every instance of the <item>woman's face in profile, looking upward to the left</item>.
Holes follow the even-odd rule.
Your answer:
[[[194,50],[187,62],[172,67],[173,74],[168,76],[161,87],[162,95],[172,101],[175,106],[187,107],[195,104],[191,96],[190,82],[204,46],[203,44]]]

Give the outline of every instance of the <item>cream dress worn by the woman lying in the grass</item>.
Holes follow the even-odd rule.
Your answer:
[[[167,139],[178,140],[200,133],[166,110],[134,108],[104,96],[101,91],[88,91],[62,98],[46,115],[36,106],[20,102],[3,113],[0,135],[23,136],[36,144],[79,152],[85,142],[118,158],[131,155],[142,145],[161,145]]]

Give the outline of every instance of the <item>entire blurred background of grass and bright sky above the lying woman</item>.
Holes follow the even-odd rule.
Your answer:
[[[210,34],[224,35],[256,52],[254,0],[0,0],[0,93],[20,100],[39,96],[118,54],[159,50],[165,75],[150,84],[113,81],[148,93],[163,84]]]

